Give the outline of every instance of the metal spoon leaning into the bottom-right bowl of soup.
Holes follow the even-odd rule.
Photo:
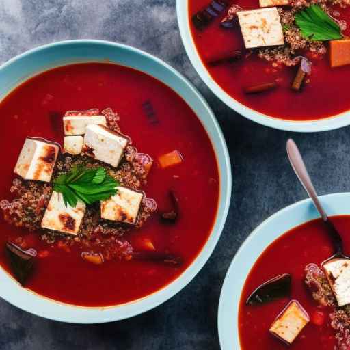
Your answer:
[[[332,224],[332,221],[329,220],[329,218],[327,217],[327,214],[325,213],[323,207],[321,206],[319,198],[317,197],[317,193],[314,189],[314,185],[312,185],[310,176],[308,174],[308,170],[306,170],[306,166],[304,164],[303,159],[301,158],[299,149],[295,144],[295,142],[293,141],[293,139],[288,139],[286,144],[286,149],[287,149],[289,161],[291,162],[291,165],[293,167],[293,170],[295,171],[295,174],[297,174],[297,177],[299,178],[301,185],[304,186],[304,189],[306,190],[312,202],[314,203],[314,206],[316,206],[317,210],[319,211],[323,219],[323,222],[327,226],[327,232],[329,234],[329,237],[331,237],[332,239],[334,250],[335,250],[335,254],[334,256],[331,257],[331,259],[334,259],[334,258],[350,259],[349,256],[346,256],[344,254],[342,237],[340,237],[340,234]]]

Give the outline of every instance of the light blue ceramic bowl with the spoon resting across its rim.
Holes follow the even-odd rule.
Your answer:
[[[350,214],[350,193],[321,196],[328,215]],[[239,300],[248,273],[256,259],[275,239],[295,226],[316,219],[319,213],[311,200],[302,200],[278,211],[258,226],[239,248],[231,262],[221,289],[219,301],[219,340],[221,350],[239,350]]]

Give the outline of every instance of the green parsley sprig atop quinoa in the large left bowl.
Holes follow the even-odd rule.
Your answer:
[[[93,204],[116,194],[120,184],[103,167],[74,167],[53,181],[53,190],[63,195],[64,204],[75,207],[78,200]]]

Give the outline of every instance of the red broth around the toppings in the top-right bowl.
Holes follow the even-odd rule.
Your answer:
[[[328,55],[312,59],[310,83],[302,92],[293,92],[291,83],[297,68],[275,69],[271,62],[257,55],[233,64],[209,66],[208,59],[220,53],[244,48],[241,30],[237,27],[225,29],[220,26],[221,17],[216,18],[206,29],[198,31],[191,21],[193,14],[208,6],[209,0],[189,0],[189,21],[193,40],[200,58],[213,80],[239,103],[285,120],[317,120],[335,116],[350,109],[347,82],[350,66],[330,68]],[[230,0],[245,10],[259,8],[258,0]],[[350,23],[350,8],[341,9],[342,19]],[[226,13],[226,11],[224,11]],[[345,34],[349,35],[347,29]],[[261,94],[244,94],[243,87],[258,85],[278,79],[278,89]],[[315,102],[316,101],[316,102]]]

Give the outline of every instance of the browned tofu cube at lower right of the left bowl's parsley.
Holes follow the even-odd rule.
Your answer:
[[[119,186],[118,191],[109,200],[101,201],[103,219],[135,224],[144,193]]]

